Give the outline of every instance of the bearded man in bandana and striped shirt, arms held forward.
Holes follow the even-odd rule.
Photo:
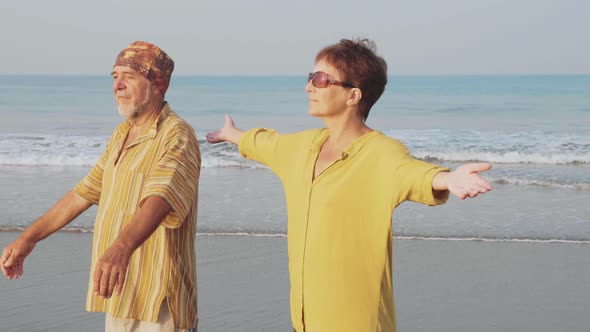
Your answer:
[[[113,66],[125,117],[90,173],[8,245],[0,267],[23,274],[35,244],[98,205],[86,309],[106,331],[195,331],[195,234],[201,156],[191,126],[164,100],[174,69],[137,41]]]

